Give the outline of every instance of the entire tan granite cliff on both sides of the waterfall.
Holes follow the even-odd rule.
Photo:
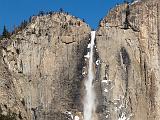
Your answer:
[[[96,31],[96,120],[160,120],[160,4],[113,8]],[[33,16],[0,46],[0,114],[83,120],[91,28],[66,13]],[[0,118],[0,119],[1,119]]]

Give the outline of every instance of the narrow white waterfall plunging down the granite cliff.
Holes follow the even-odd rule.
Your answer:
[[[95,40],[95,31],[91,32],[91,43],[89,53],[88,78],[85,81],[86,95],[84,98],[84,120],[93,120],[95,112],[95,92],[93,87],[94,72],[93,72],[93,48]]]

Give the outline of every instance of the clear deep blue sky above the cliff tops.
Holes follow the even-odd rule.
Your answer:
[[[96,29],[109,9],[123,0],[0,0],[0,33],[4,24],[9,30],[39,11],[64,11],[84,19]]]

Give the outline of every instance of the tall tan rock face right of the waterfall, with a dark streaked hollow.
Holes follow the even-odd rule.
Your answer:
[[[156,0],[123,4],[101,21],[96,35],[101,120],[160,119],[159,9]]]

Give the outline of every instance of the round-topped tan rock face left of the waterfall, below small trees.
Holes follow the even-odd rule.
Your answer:
[[[3,111],[23,111],[17,119],[27,120],[66,120],[70,111],[82,112],[83,56],[90,31],[80,19],[53,13],[33,17],[23,31],[2,41],[1,63],[8,73],[1,76],[1,85],[13,87],[0,91]],[[22,108],[14,110],[15,105]]]

